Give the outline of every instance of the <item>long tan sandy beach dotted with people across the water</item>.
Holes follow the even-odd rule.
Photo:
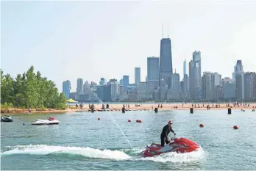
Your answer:
[[[104,106],[106,107],[107,103],[104,103]],[[209,105],[209,109],[255,109],[256,108],[256,103],[239,103],[238,105],[234,105],[230,103],[228,106],[228,103],[159,103],[159,104],[150,104],[150,103],[144,103],[144,104],[138,104],[135,106],[135,104],[129,104],[129,103],[124,103],[124,104],[110,104],[109,109],[110,111],[121,111],[123,108],[123,105],[125,106],[125,109],[127,111],[132,110],[154,110],[155,108],[158,108],[158,111],[163,111],[163,110],[185,110],[185,109],[190,109],[194,108],[196,110],[206,110],[207,105]],[[102,104],[94,104],[94,111],[102,111]],[[89,104],[84,104],[84,106],[81,108],[76,108],[76,106],[68,106],[67,109],[61,110],[61,109],[32,109],[32,113],[65,113],[65,112],[77,112],[77,111],[90,111]],[[30,114],[28,109],[15,109],[15,108],[10,108],[10,109],[1,109],[1,114]]]

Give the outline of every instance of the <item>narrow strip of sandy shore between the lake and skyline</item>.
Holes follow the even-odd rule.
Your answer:
[[[161,105],[161,104],[160,104]],[[154,111],[155,108],[157,108],[157,104],[149,104],[144,103],[140,106],[135,106],[133,104],[125,104],[126,112],[129,111]],[[109,110],[112,112],[118,112],[122,110],[123,104],[110,104]],[[193,108],[193,110],[224,110],[224,109],[235,109],[235,110],[251,110],[256,109],[256,103],[249,103],[249,106],[233,106],[230,104],[230,106],[227,106],[227,103],[220,103],[220,104],[213,104],[210,105],[210,109],[207,109],[206,104],[196,104],[196,107],[191,105],[191,103],[186,104],[163,104],[163,107],[159,107],[158,111],[172,111],[172,110],[190,110]],[[95,112],[103,112],[102,110],[102,104],[95,104],[94,105],[94,111]],[[9,108],[9,109],[1,109],[1,115],[7,115],[7,114],[54,114],[54,113],[68,113],[68,112],[90,112],[89,106],[83,106],[82,109],[77,108],[75,106],[68,106],[68,109],[32,109],[32,112],[29,112],[29,109],[18,109],[18,108]]]

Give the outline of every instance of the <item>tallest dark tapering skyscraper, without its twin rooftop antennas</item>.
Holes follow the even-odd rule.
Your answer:
[[[168,89],[171,88],[172,75],[172,58],[171,58],[171,39],[163,38],[160,42],[160,67],[159,80],[164,79],[168,84]],[[159,81],[160,84],[160,81]]]

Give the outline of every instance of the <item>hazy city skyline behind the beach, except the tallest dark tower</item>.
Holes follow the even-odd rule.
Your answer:
[[[120,83],[117,79],[110,79],[102,85],[85,82],[85,90],[80,92],[69,92],[63,81],[63,92],[67,99],[71,97],[77,101],[107,102],[107,101],[252,101],[256,99],[256,73],[243,72],[243,64],[238,60],[235,67],[235,79],[222,78],[217,72],[201,70],[201,53],[193,52],[193,60],[189,62],[190,77],[185,74],[185,79],[180,80],[176,70],[171,76],[171,87],[163,78],[159,79],[159,57],[148,57],[148,76],[146,82],[138,84],[130,83],[129,76],[123,76]],[[136,68],[135,68],[136,69]],[[136,73],[136,70],[135,70]],[[136,74],[135,74],[136,75]],[[168,78],[167,78],[168,79]],[[79,87],[77,79],[77,87]],[[126,80],[121,85],[121,81]],[[235,81],[236,80],[236,81]],[[158,81],[160,84],[158,84]],[[68,81],[68,84],[70,82]],[[68,89],[69,90],[69,89]],[[77,88],[79,90],[79,88]],[[67,94],[68,93],[68,94]]]

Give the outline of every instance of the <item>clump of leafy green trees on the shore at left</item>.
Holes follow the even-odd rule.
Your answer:
[[[65,108],[65,95],[58,92],[53,81],[34,73],[31,66],[26,73],[13,80],[1,70],[1,103],[12,103],[18,107]]]

